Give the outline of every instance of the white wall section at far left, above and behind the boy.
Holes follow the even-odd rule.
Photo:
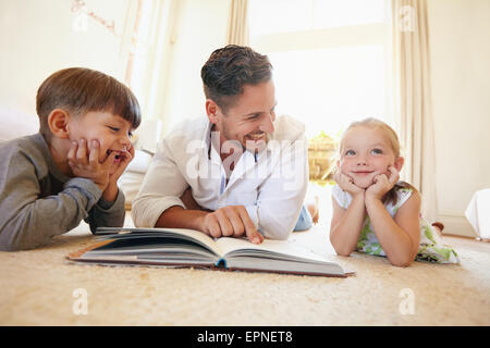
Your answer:
[[[123,33],[130,0],[85,2],[90,11],[114,20],[117,33]],[[0,1],[0,104],[35,114],[37,88],[64,67],[90,67],[123,79],[122,39],[91,18],[86,32],[74,32],[72,3]]]

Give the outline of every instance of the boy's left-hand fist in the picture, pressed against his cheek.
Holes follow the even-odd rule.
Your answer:
[[[91,141],[90,150],[87,140],[73,141],[68,153],[68,163],[74,176],[88,178],[105,191],[109,184],[109,170],[117,153],[112,152],[100,163],[99,152],[100,145],[97,140]]]

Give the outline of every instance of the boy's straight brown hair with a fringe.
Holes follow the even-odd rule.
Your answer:
[[[39,133],[51,139],[48,116],[54,109],[63,109],[74,116],[90,111],[110,112],[137,128],[142,112],[130,88],[115,78],[86,67],[69,67],[49,76],[40,85],[36,96]]]

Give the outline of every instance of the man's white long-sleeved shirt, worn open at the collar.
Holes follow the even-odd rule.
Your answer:
[[[211,132],[207,117],[184,121],[159,142],[133,201],[135,226],[154,227],[167,209],[185,208],[180,197],[191,187],[200,207],[216,211],[244,206],[266,238],[286,239],[308,184],[304,124],[291,116],[277,117],[267,147],[257,154],[244,150],[228,183],[224,167],[232,157],[223,163],[212,144],[219,147],[219,135]]]

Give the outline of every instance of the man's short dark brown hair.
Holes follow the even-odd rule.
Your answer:
[[[207,99],[213,100],[223,112],[233,105],[244,85],[257,85],[272,77],[267,55],[249,47],[229,45],[211,53],[200,70]]]

